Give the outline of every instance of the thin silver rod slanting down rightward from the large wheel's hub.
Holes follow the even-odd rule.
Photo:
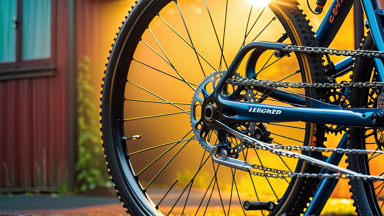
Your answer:
[[[310,156],[306,156],[306,155],[303,155],[303,154],[300,154],[297,152],[284,151],[284,150],[273,148],[268,143],[263,143],[262,141],[253,139],[249,136],[246,136],[246,135],[243,135],[242,133],[239,133],[238,131],[232,130],[231,128],[229,128],[227,125],[224,125],[220,121],[216,120],[216,123],[220,124],[224,128],[223,130],[227,131],[228,133],[231,133],[236,138],[241,139],[244,142],[255,146],[258,149],[261,148],[262,150],[267,150],[267,151],[270,151],[271,153],[281,155],[281,156],[287,156],[287,157],[291,157],[291,158],[299,158],[299,159],[305,160],[311,164],[316,164],[320,168],[329,169],[331,171],[341,173],[341,174],[346,174],[346,175],[347,174],[348,175],[358,175],[359,174],[359,173],[356,173],[356,172],[351,171],[349,169],[341,168],[341,167],[336,166],[334,164],[326,163],[325,161],[321,161],[321,160],[318,160],[316,158],[312,158]],[[360,174],[359,176],[361,176],[362,178],[364,178],[364,177],[369,178],[368,175]]]

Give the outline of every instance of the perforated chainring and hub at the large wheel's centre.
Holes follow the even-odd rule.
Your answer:
[[[216,88],[218,80],[223,76],[223,73],[223,71],[214,72],[205,77],[199,86],[197,86],[191,101],[190,122],[196,139],[204,150],[213,153],[214,146],[216,146],[216,148],[220,146],[220,148],[227,150],[228,156],[236,157],[236,155],[247,148],[247,146],[241,141],[235,140],[233,135],[217,128],[215,120],[219,119],[222,110],[220,110],[218,102],[209,97]],[[242,78],[242,76],[237,73],[232,77],[235,79]],[[234,86],[228,85],[225,90],[221,91],[221,94],[224,96],[236,95],[234,98],[238,101],[255,101],[253,90],[248,86],[236,89]],[[236,128],[243,134],[252,135],[257,128],[255,123],[234,123],[231,127]],[[211,138],[212,136],[217,136],[217,139]],[[212,143],[212,141],[215,141],[215,143]]]

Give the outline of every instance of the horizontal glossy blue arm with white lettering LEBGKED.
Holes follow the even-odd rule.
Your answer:
[[[317,107],[324,106],[322,108],[278,106],[227,100],[221,95],[218,96],[218,102],[221,110],[218,121],[224,124],[302,121],[354,127],[384,127],[384,110],[377,108],[343,109],[326,103],[314,104]],[[313,103],[315,102],[319,103]]]

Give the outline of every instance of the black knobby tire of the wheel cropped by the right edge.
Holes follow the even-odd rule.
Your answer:
[[[364,37],[361,50],[377,50],[374,44],[371,33],[368,33],[367,37]],[[365,58],[362,56],[356,56],[355,65],[353,68],[352,82],[365,82],[374,81],[373,78],[374,62],[373,58]],[[376,98],[370,100],[369,88],[352,88],[350,90],[351,103],[354,107],[377,107]],[[375,94],[375,96],[377,96]],[[365,128],[349,128],[348,131],[348,146],[354,149],[366,149],[366,129]],[[367,174],[371,173],[369,164],[369,158],[367,155],[348,155],[348,168],[356,171],[357,173]],[[350,192],[351,198],[354,201],[356,207],[356,213],[359,216],[379,216],[383,215],[379,201],[376,197],[375,186],[373,182],[363,182],[357,180],[350,180],[351,185]],[[377,190],[377,189],[376,189]]]

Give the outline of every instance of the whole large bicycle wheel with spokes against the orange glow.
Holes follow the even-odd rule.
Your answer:
[[[286,43],[317,46],[311,27],[295,2],[274,1],[270,8],[258,9],[245,1],[141,0],[132,7],[109,58],[101,111],[109,173],[127,212],[264,214],[242,208],[243,201],[258,200],[278,203],[272,215],[302,213],[317,179],[269,179],[213,163],[210,153],[196,141],[189,114],[191,105],[194,118],[201,113],[201,105],[194,100],[191,103],[201,93],[195,93],[202,86],[198,83],[204,83],[207,91],[215,88],[223,73],[218,70],[226,70],[228,60],[245,44],[277,40],[287,33]],[[239,32],[245,34],[239,36]],[[259,58],[257,78],[324,82],[321,56],[297,53],[276,58],[273,53],[274,50],[266,51]],[[245,76],[244,65],[245,62],[233,77]],[[313,88],[297,90],[305,99],[303,104],[295,105],[268,96],[266,89],[236,91],[236,86],[227,87],[223,92],[238,92],[235,98],[239,101],[287,106],[309,107],[312,98],[319,99],[324,94]],[[323,127],[300,122],[255,120],[238,124],[237,129],[254,137],[258,133],[263,141],[273,143],[322,146],[324,141]],[[135,134],[142,138],[124,139]],[[210,131],[204,139],[214,145],[222,140],[220,136]],[[225,136],[226,145],[238,146],[239,140]],[[321,157],[319,153],[306,154]],[[308,173],[319,170],[305,161],[254,148],[239,150],[233,157],[275,169]]]

